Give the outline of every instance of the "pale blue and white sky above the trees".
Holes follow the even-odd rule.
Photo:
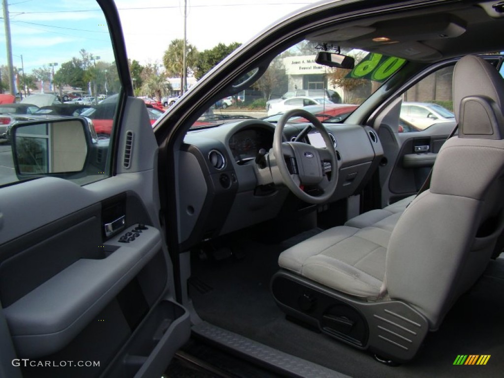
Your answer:
[[[198,50],[222,42],[244,43],[277,19],[314,0],[187,0],[187,40]],[[171,40],[183,38],[184,0],[116,0],[128,56],[142,65],[162,65]],[[114,60],[108,29],[92,0],[9,0],[14,66],[25,71],[62,62],[86,49]],[[5,24],[0,14],[2,23]],[[4,27],[0,65],[7,63]]]

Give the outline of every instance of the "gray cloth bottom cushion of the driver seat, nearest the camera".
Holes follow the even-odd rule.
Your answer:
[[[379,298],[390,235],[377,227],[334,227],[286,249],[278,264],[344,293]]]

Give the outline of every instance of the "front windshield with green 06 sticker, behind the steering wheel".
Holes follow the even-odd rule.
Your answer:
[[[323,122],[343,122],[362,102],[397,72],[404,59],[351,47],[341,53],[355,59],[353,70],[319,65],[316,43],[302,41],[278,54],[266,72],[234,94],[222,96],[192,128],[216,127],[238,119],[275,123],[290,109],[302,108]],[[304,122],[292,118],[291,122]]]

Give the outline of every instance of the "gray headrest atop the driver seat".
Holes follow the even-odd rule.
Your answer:
[[[502,139],[504,80],[489,62],[473,55],[457,62],[453,104],[460,138]]]

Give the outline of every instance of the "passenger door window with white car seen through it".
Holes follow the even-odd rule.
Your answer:
[[[433,72],[403,93],[400,132],[417,132],[427,129],[434,123],[455,120],[453,67],[444,67]]]

